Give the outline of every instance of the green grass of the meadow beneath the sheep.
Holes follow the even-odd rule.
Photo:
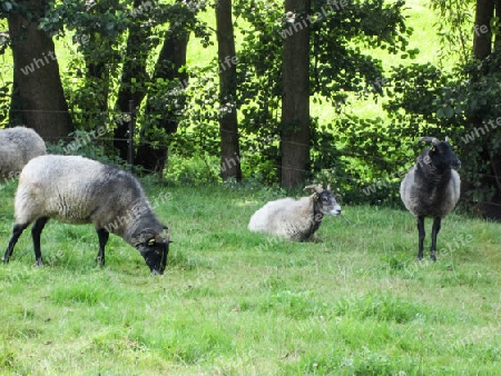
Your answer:
[[[2,189],[3,246],[14,187]],[[157,209],[173,231],[166,274],[149,276],[114,236],[98,268],[91,226],[57,221],[37,268],[27,230],[0,266],[0,373],[498,373],[499,224],[452,214],[439,248],[453,251],[418,263],[405,211],[344,206],[324,218],[318,241],[299,244],[247,231],[272,192],[146,187],[151,200],[171,194]]]

